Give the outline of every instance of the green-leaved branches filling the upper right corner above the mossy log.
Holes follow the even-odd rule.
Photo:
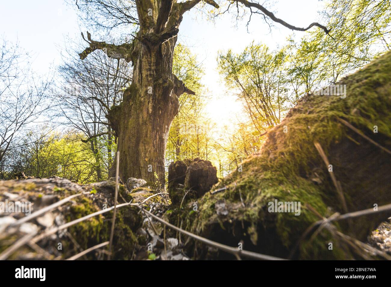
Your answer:
[[[312,30],[299,42],[288,39],[288,81],[296,102],[390,50],[390,5],[381,0],[327,1],[322,14],[332,37]]]

